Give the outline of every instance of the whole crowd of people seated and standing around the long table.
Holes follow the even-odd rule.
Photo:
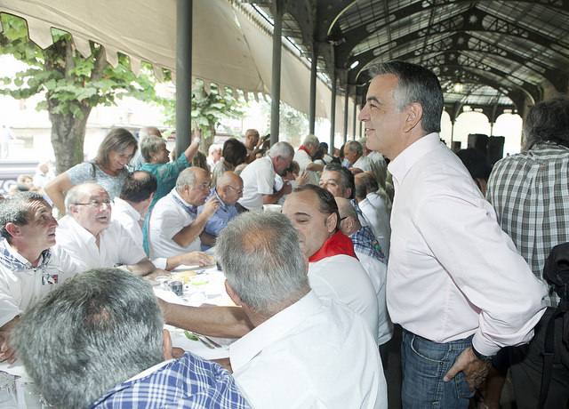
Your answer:
[[[365,138],[335,155],[254,129],[208,156],[194,132],[172,155],[154,127],[113,129],[94,160],[1,202],[0,359],[57,407],[387,408],[395,323],[405,409],[477,390],[497,408],[508,370],[535,407],[532,338],[559,301],[541,272],[569,237],[569,100],[533,107],[524,153],[493,169],[441,143],[442,109],[435,75],[392,61]],[[154,296],[154,277],[215,262],[235,306]],[[236,341],[206,361],[164,324]],[[555,364],[545,407],[561,408]]]

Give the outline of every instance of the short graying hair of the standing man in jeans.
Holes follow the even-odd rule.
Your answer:
[[[397,60],[382,62],[370,71],[373,76],[397,76],[397,108],[401,110],[413,102],[419,102],[423,108],[423,131],[440,132],[443,90],[435,74],[420,65]]]

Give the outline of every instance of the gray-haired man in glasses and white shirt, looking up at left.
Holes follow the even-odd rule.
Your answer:
[[[142,248],[116,221],[111,221],[107,190],[95,183],[70,188],[65,196],[67,215],[57,229],[59,244],[81,269],[123,265],[145,276],[155,270]]]

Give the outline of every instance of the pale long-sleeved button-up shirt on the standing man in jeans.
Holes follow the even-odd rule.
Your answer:
[[[458,156],[430,133],[389,163],[388,308],[436,342],[474,334],[483,355],[529,341],[547,289],[496,221]]]

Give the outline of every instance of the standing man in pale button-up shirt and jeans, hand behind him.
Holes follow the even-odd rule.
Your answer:
[[[391,161],[387,299],[403,329],[404,408],[466,408],[502,347],[533,336],[546,288],[533,276],[460,159],[437,132],[443,92],[432,72],[378,67],[359,118]]]

